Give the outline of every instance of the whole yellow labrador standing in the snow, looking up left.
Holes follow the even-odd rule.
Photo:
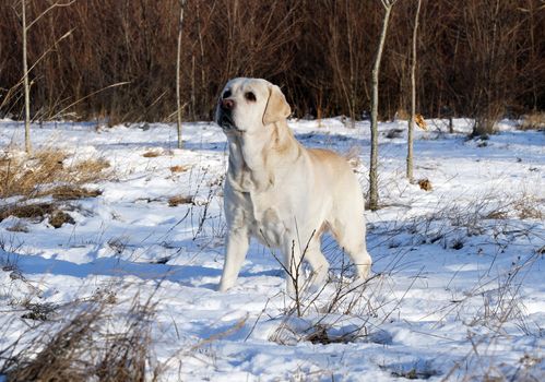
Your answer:
[[[320,237],[328,229],[352,256],[358,276],[369,274],[359,182],[343,157],[307,150],[294,138],[286,123],[291,112],[280,87],[261,79],[234,79],[220,96],[215,121],[229,148],[222,291],[235,285],[250,237],[281,250],[288,291],[303,285],[294,280],[301,260],[312,267],[316,286],[324,282],[329,263]]]

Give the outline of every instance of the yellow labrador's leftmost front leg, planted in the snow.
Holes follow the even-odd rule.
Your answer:
[[[248,252],[250,237],[247,228],[229,229],[226,243],[225,263],[223,265],[220,291],[233,287]]]

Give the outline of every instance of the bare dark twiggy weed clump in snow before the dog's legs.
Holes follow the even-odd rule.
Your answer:
[[[354,279],[352,266],[344,262],[341,251],[339,276],[332,274],[321,288],[313,291],[309,288],[311,277],[304,277],[300,264],[293,267],[295,274],[282,265],[287,277],[294,284],[297,283],[300,290],[289,296],[291,303],[269,339],[283,345],[306,341],[320,344],[356,341],[389,343],[389,334],[381,331],[379,325],[398,310],[414,285],[413,282],[401,299],[386,297],[388,291],[384,293],[384,287],[391,284],[387,279],[396,272],[399,258],[403,255],[398,252],[382,274],[359,280]]]

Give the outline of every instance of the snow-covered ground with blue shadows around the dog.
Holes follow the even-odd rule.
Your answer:
[[[17,218],[0,223],[0,349],[66,314],[38,325],[21,318],[22,301],[62,312],[106,290],[119,322],[123,301],[153,296],[152,363],[162,362],[164,380],[544,380],[545,133],[505,121],[489,140],[467,140],[470,120],[454,120],[453,134],[446,121],[427,122],[416,132],[415,178],[433,189],[404,178],[406,122],[381,123],[382,207],[366,212],[374,277],[348,290],[347,260],[325,238],[331,280],[303,296],[301,318],[273,253],[256,242],[238,286],[215,290],[227,159],[218,127],[186,123],[178,150],[168,124],[33,126],[35,147],[63,150],[66,160],[103,157],[115,177],[87,184],[97,198],[63,202],[74,225],[24,222],[23,232],[7,229]],[[367,190],[368,122],[289,126],[307,146],[359,150]],[[21,144],[22,130],[0,121],[2,146]],[[193,202],[170,206],[177,195]]]

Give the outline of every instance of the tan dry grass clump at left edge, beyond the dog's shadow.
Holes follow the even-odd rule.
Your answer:
[[[0,198],[26,199],[48,194],[44,187],[54,183],[84,184],[108,178],[104,159],[70,163],[68,154],[58,150],[39,150],[32,156],[17,152],[0,155]]]

